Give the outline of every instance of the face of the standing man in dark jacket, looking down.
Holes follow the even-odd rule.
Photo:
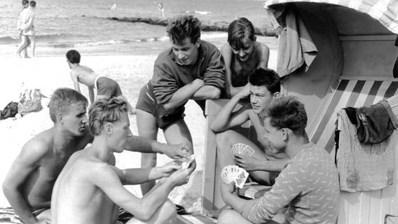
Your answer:
[[[172,43],[171,40],[170,42]],[[195,64],[198,60],[199,46],[200,38],[198,38],[198,41],[196,41],[196,43],[191,43],[191,38],[187,37],[181,45],[172,43],[172,50],[174,52],[174,55],[176,55],[179,63],[184,65],[192,65]]]

